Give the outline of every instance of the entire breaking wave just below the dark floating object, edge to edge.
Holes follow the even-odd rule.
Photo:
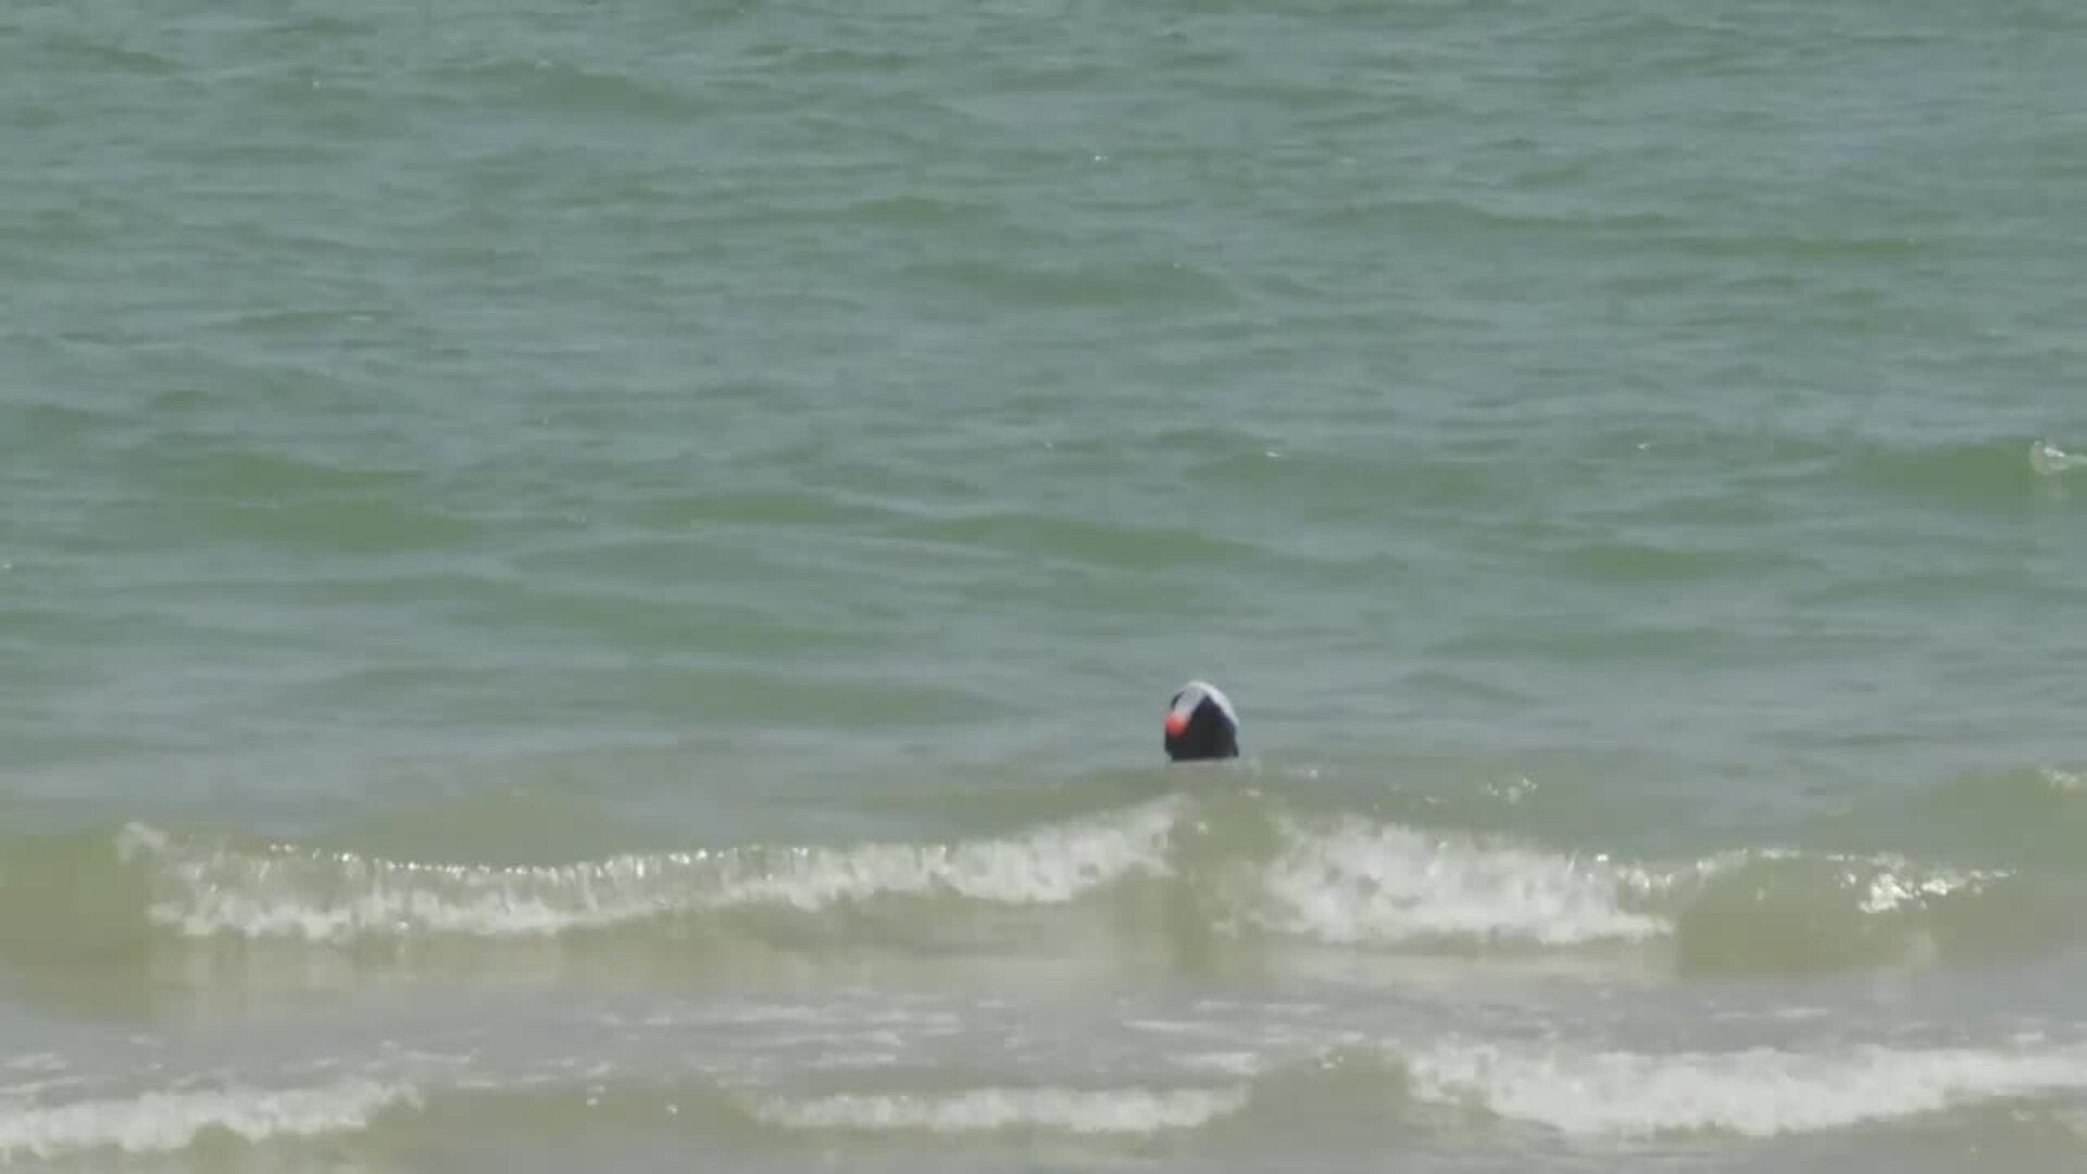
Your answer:
[[[209,965],[296,976],[311,969],[288,965],[305,948],[344,950],[338,961],[355,967],[447,971],[511,942],[547,942],[557,965],[605,967],[862,950],[922,965],[1041,953],[1204,967],[1334,948],[1542,955],[1684,978],[1832,973],[2066,948],[2081,940],[2077,896],[2070,871],[2029,865],[1795,848],[1632,861],[1302,815],[1261,794],[1173,794],[998,838],[557,865],[257,846],[134,823],[113,838],[0,840],[0,957],[152,965],[154,950],[194,944]],[[269,950],[219,953],[225,942]],[[442,948],[392,948],[411,942]]]

